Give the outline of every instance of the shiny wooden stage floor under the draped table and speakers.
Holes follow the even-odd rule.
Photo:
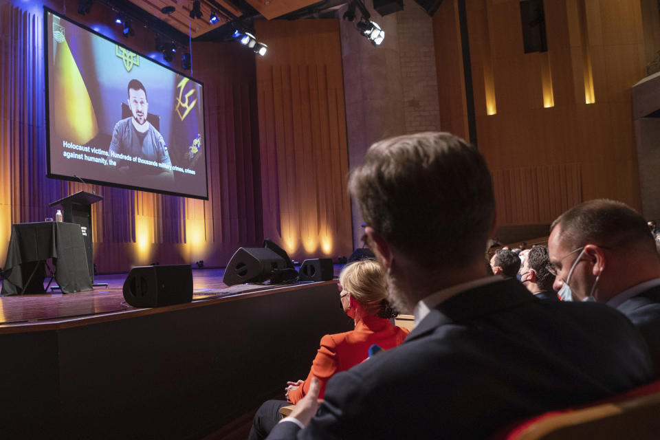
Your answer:
[[[192,301],[222,298],[277,287],[270,284],[250,284],[228,287],[222,282],[223,269],[192,270]],[[5,327],[45,324],[62,320],[100,318],[109,314],[126,313],[136,309],[124,301],[122,286],[128,274],[96,276],[91,292],[62,294],[59,290],[48,294],[0,296],[0,333]]]

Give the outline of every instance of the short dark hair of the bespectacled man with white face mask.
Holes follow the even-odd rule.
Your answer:
[[[550,231],[555,226],[560,226],[562,242],[571,250],[592,243],[624,251],[655,252],[654,239],[646,220],[620,201],[585,201],[561,214],[550,225]]]

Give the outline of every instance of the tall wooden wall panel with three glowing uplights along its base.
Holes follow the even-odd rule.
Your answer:
[[[258,21],[264,234],[292,257],[352,252],[337,20]]]

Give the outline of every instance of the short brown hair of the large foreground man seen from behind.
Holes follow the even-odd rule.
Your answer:
[[[392,137],[369,148],[349,190],[366,225],[421,267],[483,258],[495,212],[481,154],[450,133]]]

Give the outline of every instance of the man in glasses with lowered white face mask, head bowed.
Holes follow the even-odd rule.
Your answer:
[[[548,248],[560,298],[604,303],[628,316],[660,376],[660,259],[643,217],[619,201],[586,201],[553,222]]]

